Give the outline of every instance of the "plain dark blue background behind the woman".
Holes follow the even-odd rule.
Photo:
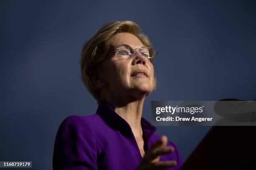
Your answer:
[[[79,77],[83,43],[98,28],[131,20],[158,50],[151,100],[256,98],[255,1],[0,1],[0,160],[51,169],[56,131],[97,102]],[[210,127],[157,127],[184,160]]]

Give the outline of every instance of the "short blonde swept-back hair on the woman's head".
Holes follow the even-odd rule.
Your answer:
[[[102,25],[100,30],[84,44],[80,60],[82,81],[97,102],[100,100],[100,90],[93,84],[91,73],[104,65],[110,50],[110,45],[107,42],[113,35],[120,32],[128,32],[138,37],[143,45],[149,47],[150,57],[156,52],[148,36],[141,32],[141,28],[136,23],[132,21],[115,21]],[[153,60],[150,61],[153,62]],[[156,89],[155,74],[154,77],[154,89]]]

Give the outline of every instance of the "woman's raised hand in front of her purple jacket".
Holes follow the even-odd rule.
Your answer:
[[[177,165],[175,160],[160,161],[160,155],[174,151],[174,147],[166,146],[167,141],[167,137],[163,135],[159,140],[154,142],[145,152],[136,170],[156,170]]]

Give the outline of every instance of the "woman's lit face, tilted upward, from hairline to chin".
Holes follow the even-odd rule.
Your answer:
[[[118,55],[118,52],[113,52],[107,60],[103,75],[111,95],[125,97],[150,94],[154,88],[154,66],[139,50],[144,47],[143,43],[138,37],[127,32],[115,34],[108,43],[114,50],[120,45],[138,48],[131,57],[123,57]]]

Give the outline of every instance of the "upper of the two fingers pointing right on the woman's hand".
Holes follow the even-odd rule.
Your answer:
[[[152,152],[146,153],[142,161],[145,163],[149,163],[152,160],[154,160],[156,157],[163,154],[172,153],[173,151],[174,151],[174,147],[172,146],[166,146],[164,148],[156,148]]]

